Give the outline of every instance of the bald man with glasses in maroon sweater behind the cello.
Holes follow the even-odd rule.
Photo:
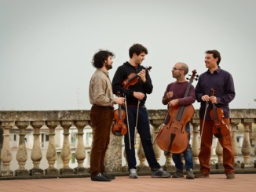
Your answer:
[[[185,63],[176,63],[172,69],[173,77],[176,78],[176,82],[172,82],[167,85],[166,91],[163,94],[162,103],[164,105],[168,104],[168,107],[174,106],[188,106],[196,101],[195,89],[193,85],[190,85],[188,96],[185,96],[185,92],[188,88],[188,81],[185,79],[185,75],[188,74],[188,65]],[[168,119],[166,118],[166,121]],[[176,128],[175,128],[176,129]],[[190,126],[189,123],[185,125],[186,132],[188,132],[188,147],[183,152],[185,158],[185,168],[187,171],[186,178],[194,179],[193,174],[193,158],[192,158],[192,149],[189,144],[190,140]],[[175,167],[177,168],[176,172],[172,176],[173,178],[184,177],[183,174],[183,163],[181,161],[181,154],[172,154]]]

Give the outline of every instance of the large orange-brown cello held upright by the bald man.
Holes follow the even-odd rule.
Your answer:
[[[196,70],[192,71],[184,97],[188,96],[189,89],[196,76],[198,76],[196,75]],[[162,129],[159,130],[159,134],[156,137],[156,143],[162,150],[168,154],[181,154],[187,149],[188,132],[186,132],[185,127],[188,121],[192,119],[194,112],[195,109],[192,104],[169,107],[167,113],[170,121],[168,121],[167,125],[162,125]]]

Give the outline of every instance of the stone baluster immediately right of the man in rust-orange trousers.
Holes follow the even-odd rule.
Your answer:
[[[232,147],[234,150],[234,154],[235,154],[235,167],[238,164],[237,162],[237,156],[239,154],[239,150],[238,150],[238,143],[237,143],[237,139],[236,139],[236,133],[237,133],[237,125],[240,124],[241,120],[240,119],[230,119],[230,125],[231,125],[231,137],[232,137]]]

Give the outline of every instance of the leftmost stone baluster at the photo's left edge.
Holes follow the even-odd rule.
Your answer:
[[[12,150],[9,145],[9,129],[14,125],[14,122],[2,122],[1,127],[3,128],[3,143],[1,151],[2,171],[0,176],[13,176],[13,171],[9,169],[10,161],[13,159]]]

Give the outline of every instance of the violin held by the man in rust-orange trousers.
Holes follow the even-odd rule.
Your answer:
[[[211,96],[216,96],[214,89],[210,89],[210,92]],[[229,126],[226,125],[225,122],[223,121],[223,110],[220,107],[216,107],[215,103],[212,104],[213,109],[210,110],[210,118],[214,121],[213,134],[217,138],[223,138],[225,136],[228,136],[230,134]]]

